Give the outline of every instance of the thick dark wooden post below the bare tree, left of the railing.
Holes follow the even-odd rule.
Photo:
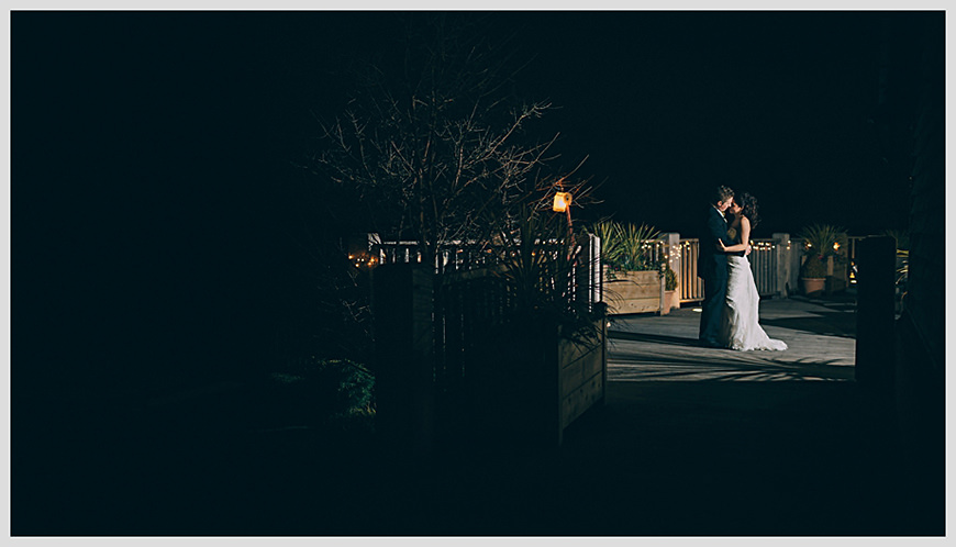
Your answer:
[[[399,450],[431,449],[434,432],[433,293],[430,265],[373,270],[376,428]]]

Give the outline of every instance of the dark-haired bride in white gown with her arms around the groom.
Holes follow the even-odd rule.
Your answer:
[[[757,200],[748,193],[743,193],[727,209],[730,225],[727,234],[733,245],[725,246],[718,241],[721,249],[727,254],[727,295],[721,317],[719,341],[731,349],[746,351],[749,349],[787,349],[783,341],[772,339],[757,323],[760,295],[754,282],[754,272],[746,256],[735,253],[746,250],[751,241],[751,230],[756,227]]]

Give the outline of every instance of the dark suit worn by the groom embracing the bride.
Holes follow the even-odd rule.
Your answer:
[[[708,206],[707,224],[700,237],[697,276],[703,278],[703,309],[700,314],[700,342],[716,346],[724,298],[727,293],[727,257],[718,249],[721,239],[730,245],[727,222],[713,205]]]

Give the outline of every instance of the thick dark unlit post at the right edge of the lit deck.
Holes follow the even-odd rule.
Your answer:
[[[856,380],[878,390],[893,384],[896,239],[871,236],[857,246]]]

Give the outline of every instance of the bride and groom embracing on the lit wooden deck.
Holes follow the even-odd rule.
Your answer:
[[[700,344],[742,351],[787,349],[757,321],[760,297],[747,260],[757,200],[748,193],[735,199],[733,190],[721,186],[710,203],[697,263],[697,275],[703,278]]]

